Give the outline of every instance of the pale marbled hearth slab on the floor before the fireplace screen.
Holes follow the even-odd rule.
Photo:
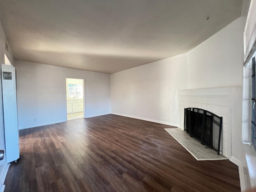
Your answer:
[[[217,152],[211,148],[206,148],[198,140],[192,138],[181,130],[180,128],[165,129],[174,139],[176,139],[196,160],[224,160],[228,159],[223,155],[218,155]]]

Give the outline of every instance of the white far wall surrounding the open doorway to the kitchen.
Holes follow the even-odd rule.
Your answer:
[[[66,78],[85,80],[86,117],[110,113],[110,75],[15,60],[19,128],[66,121]]]

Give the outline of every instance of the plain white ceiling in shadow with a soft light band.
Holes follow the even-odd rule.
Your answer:
[[[111,74],[188,52],[241,9],[242,0],[0,0],[0,21],[17,60]]]

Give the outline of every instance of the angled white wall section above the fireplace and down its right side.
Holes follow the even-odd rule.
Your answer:
[[[237,162],[242,155],[243,30],[244,18],[238,18],[187,53],[188,90],[239,88],[231,106],[232,156]]]

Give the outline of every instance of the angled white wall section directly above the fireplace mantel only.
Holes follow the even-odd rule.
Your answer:
[[[187,53],[188,89],[242,86],[243,27],[238,18]]]

